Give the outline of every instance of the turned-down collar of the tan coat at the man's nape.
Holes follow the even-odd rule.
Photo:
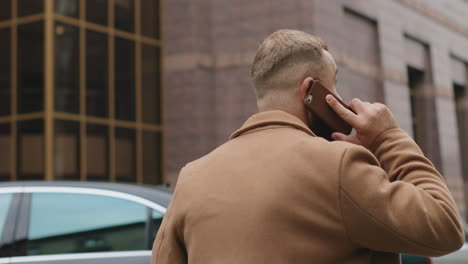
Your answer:
[[[251,116],[229,139],[236,138],[259,127],[273,125],[293,127],[315,137],[315,134],[299,118],[281,110],[273,110],[260,112]]]

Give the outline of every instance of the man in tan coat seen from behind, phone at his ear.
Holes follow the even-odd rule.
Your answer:
[[[337,67],[317,37],[280,30],[252,65],[259,113],[186,165],[153,247],[153,264],[399,263],[397,253],[460,248],[443,177],[389,109],[329,105],[357,134],[315,136],[303,100]],[[312,129],[312,130],[311,130]]]

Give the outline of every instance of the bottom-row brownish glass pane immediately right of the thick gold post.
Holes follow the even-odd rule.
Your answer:
[[[80,178],[80,124],[75,121],[55,121],[54,158],[55,178]]]

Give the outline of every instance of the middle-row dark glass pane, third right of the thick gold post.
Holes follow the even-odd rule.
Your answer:
[[[135,120],[135,44],[115,39],[115,117]]]

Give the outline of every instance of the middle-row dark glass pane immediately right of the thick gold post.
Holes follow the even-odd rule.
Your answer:
[[[55,24],[55,110],[79,113],[80,76],[78,28]]]

